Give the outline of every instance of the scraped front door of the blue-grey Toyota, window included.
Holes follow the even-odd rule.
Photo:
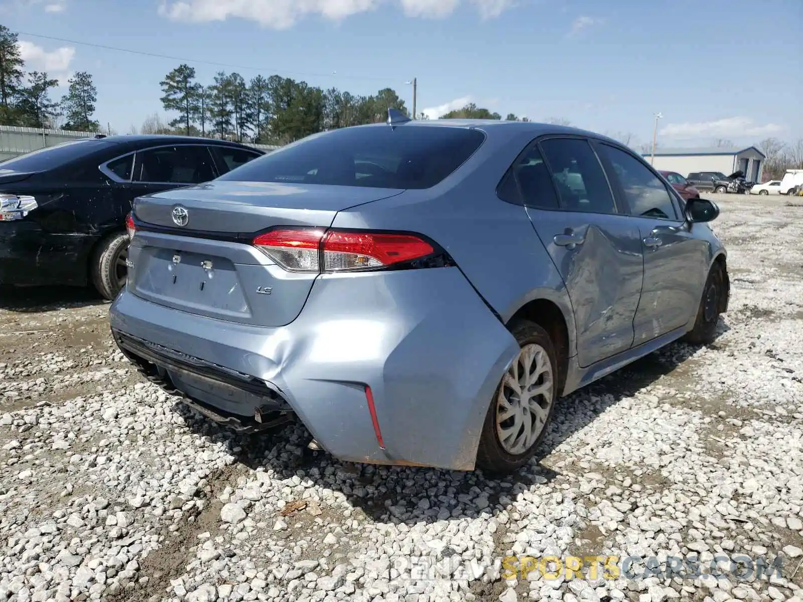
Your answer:
[[[642,237],[644,279],[634,319],[634,345],[683,327],[699,307],[707,278],[707,242],[695,238],[683,200],[634,153],[596,142],[618,201]]]

